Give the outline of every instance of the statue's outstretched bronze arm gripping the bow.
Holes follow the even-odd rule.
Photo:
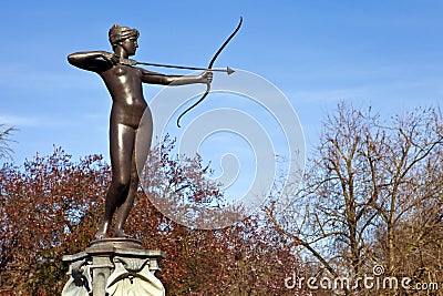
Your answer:
[[[157,72],[147,71],[138,68],[142,72],[142,81],[151,84],[184,85],[193,83],[210,83],[213,81],[212,72],[203,72],[199,75],[165,75]]]

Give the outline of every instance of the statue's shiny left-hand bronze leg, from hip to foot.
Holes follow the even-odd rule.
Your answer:
[[[112,181],[107,190],[102,224],[96,238],[107,237],[107,231],[115,210],[125,202],[130,191],[132,154],[135,130],[131,126],[115,123],[110,127],[110,152]]]

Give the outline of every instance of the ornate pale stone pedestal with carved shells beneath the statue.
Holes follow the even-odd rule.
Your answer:
[[[94,241],[84,252],[63,256],[70,279],[62,296],[165,295],[155,277],[162,251],[150,251],[132,238]]]

